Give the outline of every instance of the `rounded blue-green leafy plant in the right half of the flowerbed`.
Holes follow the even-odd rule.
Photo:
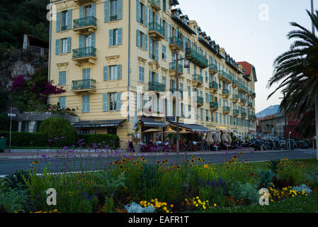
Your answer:
[[[234,196],[234,199],[244,199],[246,204],[256,204],[259,201],[256,187],[247,182],[233,182],[229,186],[229,195]]]

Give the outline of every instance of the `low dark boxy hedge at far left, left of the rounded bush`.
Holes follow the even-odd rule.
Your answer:
[[[6,145],[9,145],[9,136],[10,132],[0,131],[0,134],[6,135]],[[11,146],[19,147],[30,147],[38,146],[45,147],[47,146],[47,134],[45,133],[22,133],[22,132],[11,132]]]

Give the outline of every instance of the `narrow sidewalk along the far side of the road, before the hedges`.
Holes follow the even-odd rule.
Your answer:
[[[253,148],[243,148],[237,150],[221,150],[221,151],[210,151],[210,150],[199,150],[195,152],[188,152],[188,155],[224,155],[224,154],[238,154],[238,153],[279,153],[285,152],[287,150],[261,150],[254,151]],[[76,154],[79,154],[75,152]],[[43,156],[50,158],[66,158],[70,153],[57,153],[57,150],[11,150],[11,153],[0,153],[0,160],[38,160],[42,159]],[[90,157],[101,156],[112,156],[120,157],[123,155],[130,155],[127,151],[113,151],[113,152],[104,152],[104,153],[95,153],[95,150],[83,150],[81,155],[89,155]],[[164,155],[186,155],[186,153],[133,153],[137,156],[164,156]],[[74,158],[74,157],[72,157]]]

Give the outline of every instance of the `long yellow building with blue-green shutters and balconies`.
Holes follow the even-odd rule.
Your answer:
[[[50,96],[50,103],[76,109],[79,133],[92,133],[96,124],[98,133],[115,133],[127,142],[135,126],[140,133],[149,128],[164,133],[176,120],[169,116],[178,115],[188,131],[204,126],[256,136],[255,68],[235,62],[176,9],[178,1],[53,4],[49,79],[67,92]],[[183,68],[186,60],[189,68]]]

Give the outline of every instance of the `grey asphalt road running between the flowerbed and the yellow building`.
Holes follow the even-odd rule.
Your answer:
[[[261,161],[268,161],[268,160],[280,160],[283,158],[288,159],[309,159],[315,158],[316,151],[315,150],[289,150],[289,151],[281,151],[281,152],[266,152],[266,153],[244,153],[243,155],[237,154],[200,154],[195,156],[200,156],[205,160],[205,163],[211,162],[212,164],[218,164],[225,162],[225,159],[233,157],[233,155],[237,155],[240,157],[240,160],[246,160],[248,162],[261,162]],[[188,159],[191,159],[191,155],[188,155]],[[169,163],[177,163],[181,164],[183,155],[145,155],[145,159],[147,163],[156,162],[157,160],[167,159]],[[103,160],[96,159],[79,159],[74,158],[71,160],[47,160],[47,162],[51,162],[51,166],[54,167],[51,170],[56,172],[62,170],[63,166],[68,165],[68,170],[79,170],[79,166],[85,167],[86,170],[101,170],[107,166],[106,163],[112,162],[115,160],[115,157],[108,157],[107,159],[104,158]],[[0,160],[0,176],[3,175],[11,175],[16,170],[28,170],[32,165],[32,160]],[[45,160],[40,160],[40,163],[36,165],[40,170],[47,165]],[[93,168],[92,168],[93,167]]]

